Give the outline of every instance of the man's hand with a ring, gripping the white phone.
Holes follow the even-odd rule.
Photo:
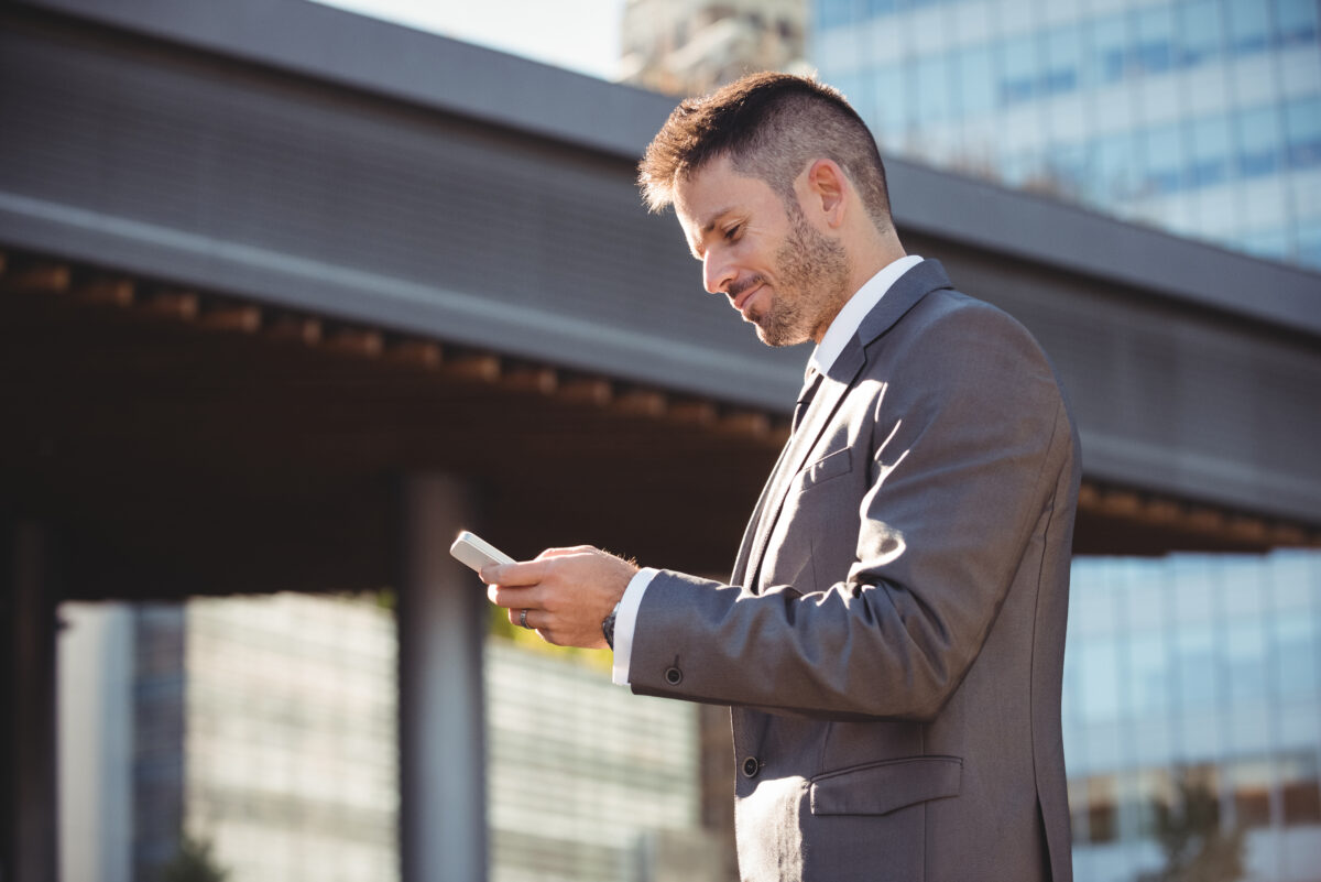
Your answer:
[[[482,569],[491,603],[509,610],[556,646],[606,648],[601,622],[624,597],[638,568],[590,545],[548,548],[536,560]],[[526,619],[523,610],[527,610]]]

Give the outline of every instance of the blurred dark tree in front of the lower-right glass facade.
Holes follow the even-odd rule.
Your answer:
[[[1165,852],[1165,866],[1144,873],[1139,882],[1236,882],[1243,878],[1242,824],[1226,831],[1221,807],[1206,776],[1180,768],[1174,778],[1174,803],[1155,800],[1156,837]]]

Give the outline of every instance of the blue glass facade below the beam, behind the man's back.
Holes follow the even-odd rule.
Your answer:
[[[1062,713],[1079,882],[1321,878],[1321,555],[1075,560]]]

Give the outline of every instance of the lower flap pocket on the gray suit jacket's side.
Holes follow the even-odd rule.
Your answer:
[[[913,757],[853,766],[811,779],[812,815],[888,815],[931,799],[958,796],[963,761]]]

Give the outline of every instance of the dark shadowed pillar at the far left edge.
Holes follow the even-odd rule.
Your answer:
[[[49,882],[57,865],[55,603],[50,535],[18,523],[4,536],[0,634],[5,724],[0,739],[4,794],[4,882]]]

